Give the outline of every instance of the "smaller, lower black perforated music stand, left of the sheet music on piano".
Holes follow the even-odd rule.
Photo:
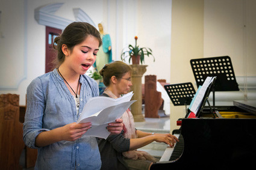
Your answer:
[[[193,97],[196,94],[195,88],[191,82],[187,83],[176,83],[171,85],[164,85],[170,100],[174,106],[190,105]]]

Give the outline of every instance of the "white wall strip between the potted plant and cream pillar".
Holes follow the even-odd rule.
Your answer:
[[[150,47],[155,56],[145,56],[148,65],[144,74],[155,74],[157,79],[170,82],[170,32],[172,1],[139,1],[137,13],[137,43],[141,47]],[[142,83],[144,83],[144,76]]]

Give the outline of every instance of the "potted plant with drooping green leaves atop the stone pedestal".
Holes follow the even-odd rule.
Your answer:
[[[152,56],[154,58],[155,61],[155,57],[152,55],[152,50],[148,47],[142,47],[140,48],[139,45],[137,46],[137,39],[138,37],[135,36],[135,46],[132,46],[131,44],[129,44],[128,49],[123,49],[122,53],[121,53],[121,59],[122,61],[125,60],[126,57],[129,57],[129,63],[131,62],[131,59],[133,61],[133,64],[142,64],[142,62],[144,61],[144,56],[148,55],[148,56]]]

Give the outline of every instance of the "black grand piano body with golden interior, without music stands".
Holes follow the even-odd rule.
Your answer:
[[[239,107],[216,106],[217,114],[205,108],[200,118],[183,118],[180,137],[184,144],[178,142],[173,149],[182,145],[181,155],[172,160],[176,154],[172,153],[167,161],[162,156],[151,169],[256,165],[256,102],[243,107],[238,103]]]

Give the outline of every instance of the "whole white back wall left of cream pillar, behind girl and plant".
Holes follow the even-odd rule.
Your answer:
[[[20,105],[25,105],[29,83],[45,73],[45,26],[37,23],[34,10],[54,3],[64,3],[54,13],[57,17],[75,21],[72,10],[81,8],[96,25],[103,22],[111,36],[113,59],[120,60],[123,47],[134,44],[137,35],[140,46],[151,47],[156,56],[154,65],[152,58],[146,58],[145,74],[169,80],[171,1],[12,0],[0,2],[0,94],[19,94]]]

